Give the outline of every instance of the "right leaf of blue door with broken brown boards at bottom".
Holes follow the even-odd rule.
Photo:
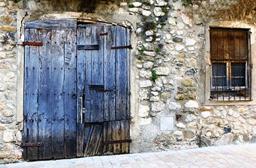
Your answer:
[[[77,27],[77,121],[84,130],[77,141],[84,156],[129,153],[129,33],[110,24]]]

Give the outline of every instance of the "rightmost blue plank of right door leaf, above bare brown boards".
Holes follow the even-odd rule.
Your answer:
[[[126,43],[125,28],[116,27],[116,45],[123,46]],[[127,107],[127,49],[116,51],[116,119],[126,118]]]

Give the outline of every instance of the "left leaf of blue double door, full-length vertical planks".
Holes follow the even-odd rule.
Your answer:
[[[76,30],[25,29],[25,160],[76,157]]]

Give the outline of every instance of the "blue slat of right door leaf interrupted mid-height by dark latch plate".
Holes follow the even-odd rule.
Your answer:
[[[92,27],[92,44],[99,44],[99,50],[92,50],[92,84],[104,84],[103,81],[103,49],[102,42],[99,39],[99,32],[101,32],[102,27]],[[96,91],[91,91],[92,99],[92,113],[91,121],[102,122],[102,103],[103,103],[103,94]]]

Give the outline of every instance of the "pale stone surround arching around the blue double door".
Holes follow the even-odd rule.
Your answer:
[[[17,11],[17,118],[16,121],[17,123],[20,123],[22,125],[23,121],[23,102],[24,102],[24,46],[22,45],[22,42],[24,41],[24,25],[26,22],[32,22],[36,20],[30,20],[29,17],[33,15],[36,11],[28,11],[28,10],[18,10]],[[124,23],[124,22],[129,22],[131,26],[135,26],[136,22],[138,22],[138,18],[136,16],[132,15],[118,15],[114,14],[112,17],[106,17],[104,15],[95,15],[92,13],[86,14],[84,16],[83,13],[80,12],[62,12],[58,13],[48,13],[41,15],[40,19],[37,20],[42,20],[42,19],[67,19],[67,18],[76,18],[76,19],[83,19],[83,20],[100,20],[104,22],[109,22],[109,23]],[[97,18],[97,19],[95,19]],[[99,19],[100,18],[100,19]],[[29,20],[29,21],[27,21]],[[134,27],[133,27],[134,29]],[[134,31],[131,32],[131,45],[136,46],[137,45],[137,37]],[[130,57],[130,91],[131,91],[131,96],[130,96],[130,112],[131,112],[131,117],[135,118],[136,116],[136,111],[138,111],[138,82],[136,79],[136,74],[138,73],[138,70],[136,66],[134,65],[134,59],[136,59],[134,56],[132,56],[132,53],[134,53],[136,50],[136,47],[133,47],[131,49],[131,57]],[[132,129],[130,130],[130,134],[132,134]]]

